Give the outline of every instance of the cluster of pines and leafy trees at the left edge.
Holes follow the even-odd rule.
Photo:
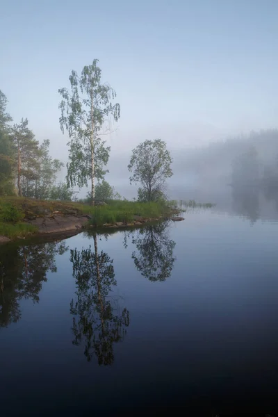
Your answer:
[[[0,90],[0,195],[36,199],[70,200],[73,191],[56,183],[63,163],[49,154],[49,139],[40,143],[28,127],[28,120],[12,124],[8,99]]]

